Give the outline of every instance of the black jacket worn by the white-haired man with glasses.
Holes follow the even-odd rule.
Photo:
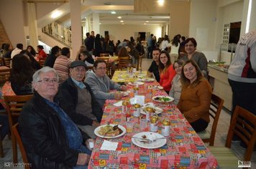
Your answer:
[[[58,113],[37,92],[22,108],[19,131],[32,168],[72,168],[76,165],[78,152],[68,147]],[[85,143],[88,135],[81,133]]]

